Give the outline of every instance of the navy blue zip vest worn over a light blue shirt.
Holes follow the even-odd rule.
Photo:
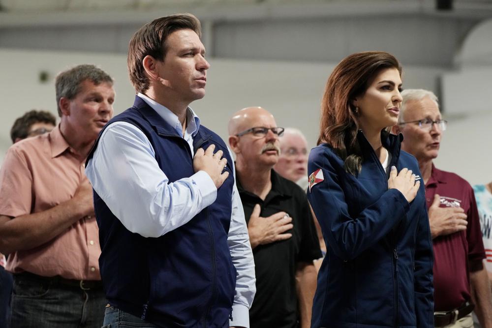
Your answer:
[[[194,174],[188,143],[140,97],[106,126],[115,121],[142,130],[170,182]],[[236,268],[227,244],[232,159],[222,139],[204,126],[193,140],[194,151],[211,144],[223,150],[229,177],[217,190],[215,202],[183,226],[159,238],[144,238],[128,231],[94,192],[101,278],[111,305],[159,327],[229,327],[236,287]]]

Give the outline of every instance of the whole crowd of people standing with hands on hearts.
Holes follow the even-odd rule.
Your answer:
[[[226,142],[189,107],[200,37],[190,14],[140,28],[119,115],[111,76],[81,64],[56,78],[58,124],[15,121],[0,327],[492,328],[492,182],[433,165],[447,121],[431,91],[356,53],[310,152],[262,107],[231,115]]]

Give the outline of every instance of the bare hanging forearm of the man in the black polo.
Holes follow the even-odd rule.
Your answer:
[[[299,303],[301,328],[311,327],[312,299],[316,291],[316,268],[313,264],[301,263],[296,271],[296,291]]]

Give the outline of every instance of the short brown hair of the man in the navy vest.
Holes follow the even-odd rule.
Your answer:
[[[136,31],[128,45],[128,72],[130,82],[137,92],[144,93],[150,87],[150,81],[143,67],[145,56],[164,60],[166,39],[176,30],[193,30],[202,36],[200,21],[192,14],[176,14],[154,19]]]

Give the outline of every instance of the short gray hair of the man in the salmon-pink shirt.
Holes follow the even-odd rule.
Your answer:
[[[57,92],[57,108],[58,115],[60,117],[62,117],[62,110],[60,109],[60,99],[62,97],[70,100],[74,99],[81,91],[80,85],[85,80],[89,80],[95,85],[99,85],[101,83],[109,83],[113,85],[113,78],[102,69],[94,65],[77,65],[66,71],[61,72],[57,75],[55,79],[55,89]]]

